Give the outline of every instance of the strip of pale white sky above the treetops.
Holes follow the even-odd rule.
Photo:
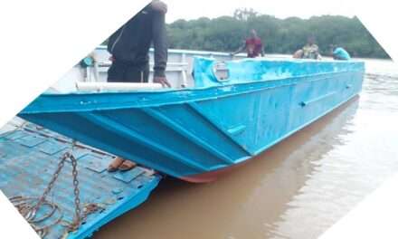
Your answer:
[[[355,9],[346,4],[349,1],[334,0],[163,0],[168,5],[166,22],[178,19],[192,20],[202,16],[209,18],[232,15],[237,8],[253,8],[261,14],[275,15],[278,18],[299,16],[309,18],[313,15],[340,14],[353,16]],[[303,7],[304,6],[304,7]]]

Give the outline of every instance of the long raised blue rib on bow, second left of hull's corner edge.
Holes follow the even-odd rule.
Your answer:
[[[118,132],[119,135],[123,135],[128,139],[136,141],[140,145],[146,146],[148,148],[153,148],[158,153],[166,155],[168,158],[176,158],[179,162],[181,162],[182,164],[185,164],[188,167],[192,167],[196,170],[207,171],[207,169],[205,167],[202,167],[201,165],[196,164],[194,162],[189,162],[189,161],[185,160],[185,158],[183,156],[176,153],[175,151],[165,148],[164,146],[161,146],[158,143],[156,143],[150,139],[147,139],[144,136],[137,134],[137,132],[134,131],[133,129],[129,129],[128,127],[124,126],[123,124],[118,123],[115,120],[109,119],[108,117],[105,117],[105,116],[93,114],[93,113],[90,113],[87,115],[85,114],[84,116],[83,115],[81,115],[81,116],[85,117],[86,119],[89,119],[89,120],[91,119],[91,121],[93,119],[94,121],[102,122],[102,124],[107,125],[110,130],[112,130],[114,132]]]

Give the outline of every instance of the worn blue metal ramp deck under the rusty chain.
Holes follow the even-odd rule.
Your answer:
[[[29,124],[0,135],[0,189],[5,196],[40,197],[49,184],[62,155],[71,150],[71,140],[47,129]],[[125,173],[109,173],[106,169],[113,156],[95,148],[78,145],[73,155],[78,161],[78,179],[82,211],[89,205],[98,210],[88,215],[80,229],[65,234],[62,223],[54,225],[45,238],[86,238],[100,226],[143,203],[161,177],[144,167]],[[68,159],[69,160],[69,159]],[[74,215],[71,161],[66,161],[51,193],[47,197],[61,208],[38,225],[50,225],[62,215],[71,222]],[[36,218],[47,214],[43,206]],[[64,236],[64,237],[63,237]]]

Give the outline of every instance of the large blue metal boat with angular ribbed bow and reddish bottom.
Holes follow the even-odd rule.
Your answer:
[[[190,182],[208,182],[361,91],[364,62],[195,58],[193,88],[44,93],[19,116]]]

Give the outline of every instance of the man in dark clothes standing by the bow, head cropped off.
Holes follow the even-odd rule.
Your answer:
[[[149,48],[154,46],[154,82],[170,87],[166,80],[167,40],[165,15],[167,5],[153,0],[109,38],[108,51],[112,65],[109,82],[147,82],[149,78]],[[108,170],[129,170],[132,161],[115,158]]]

